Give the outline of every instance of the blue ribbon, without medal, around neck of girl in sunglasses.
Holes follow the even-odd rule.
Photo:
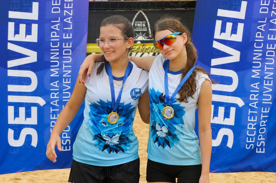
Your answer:
[[[169,96],[169,85],[168,85],[168,70],[169,70],[170,60],[167,59],[166,61],[167,61],[167,64],[165,65],[165,68],[164,68],[165,69],[165,95],[166,95],[167,105],[171,106],[172,103],[173,103],[173,99],[175,98],[175,96],[178,93],[179,89],[182,87],[182,85],[186,82],[186,80],[193,73],[193,70],[196,66],[193,66],[193,68],[191,68],[189,70],[189,72],[186,74],[186,76],[181,80],[181,82],[177,86],[176,90],[173,92],[173,95],[170,97]]]

